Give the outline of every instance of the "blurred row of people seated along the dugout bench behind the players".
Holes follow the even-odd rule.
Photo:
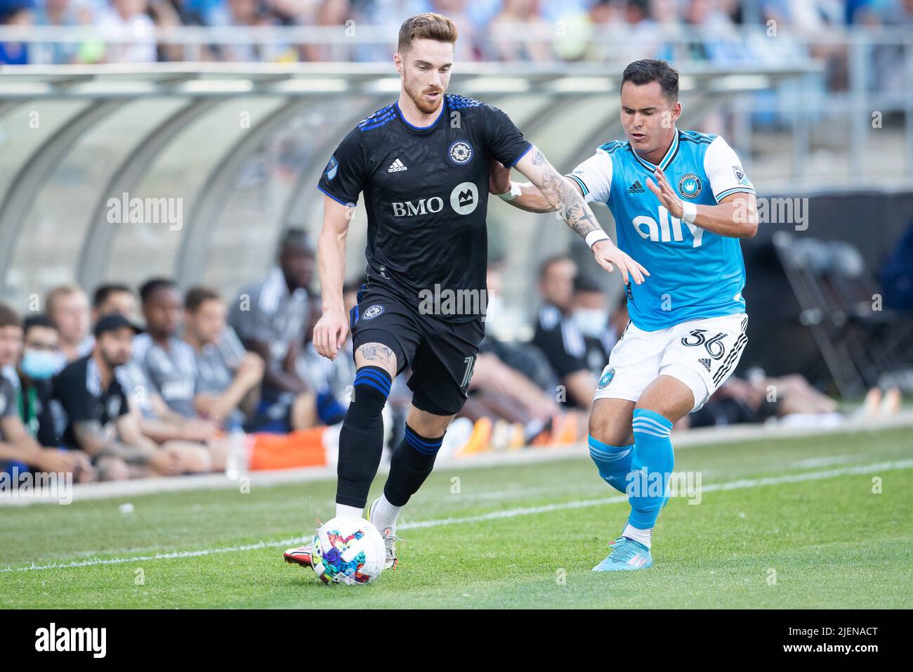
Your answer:
[[[245,464],[257,442],[261,455],[278,456],[260,468],[325,464],[355,370],[351,338],[333,361],[310,344],[320,316],[314,267],[308,236],[289,229],[266,276],[231,295],[151,278],[138,288],[106,283],[90,296],[61,285],[25,317],[0,304],[0,472],[68,472],[78,481],[237,475],[238,441]],[[501,286],[492,261],[487,336],[445,456],[581,442],[598,378],[628,323],[624,296],[610,303],[561,254],[540,263],[531,341],[504,339],[497,335],[516,329],[502,324]],[[356,283],[344,287],[349,310],[358,292]],[[384,410],[388,445],[404,429],[408,375],[394,380]],[[679,426],[834,411],[834,400],[801,377],[750,372]],[[296,457],[308,450],[316,462]]]

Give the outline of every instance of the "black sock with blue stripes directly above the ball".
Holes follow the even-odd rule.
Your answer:
[[[340,430],[336,466],[336,503],[363,508],[383,453],[381,411],[390,394],[390,374],[380,367],[362,367],[355,374],[352,403]]]

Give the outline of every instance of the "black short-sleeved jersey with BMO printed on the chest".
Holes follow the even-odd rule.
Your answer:
[[[507,114],[485,102],[447,94],[424,128],[393,103],[346,135],[318,187],[343,205],[364,194],[369,283],[388,286],[416,309],[432,293],[444,306],[435,315],[467,322],[478,312],[467,315],[460,300],[446,299],[467,290],[485,296],[489,160],[512,166],[531,146]]]

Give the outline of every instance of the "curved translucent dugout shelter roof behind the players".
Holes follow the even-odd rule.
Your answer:
[[[812,69],[683,68],[687,121]],[[501,107],[570,168],[621,133],[618,84],[589,63],[489,63],[460,66],[450,91]],[[0,300],[22,308],[58,283],[91,291],[152,274],[236,289],[262,275],[283,229],[316,235],[314,186],[331,151],[398,91],[384,63],[0,68]],[[158,223],[122,220],[137,197],[173,200]],[[350,234],[350,277],[363,268],[364,221]],[[561,222],[494,204],[489,230],[518,269],[571,240]],[[519,292],[529,278],[510,282]]]

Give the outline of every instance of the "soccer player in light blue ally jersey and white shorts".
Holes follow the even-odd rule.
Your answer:
[[[754,187],[722,137],[677,129],[681,110],[675,69],[631,63],[621,88],[627,142],[601,145],[567,176],[588,202],[612,210],[618,246],[651,272],[643,284],[625,283],[631,321],[593,400],[590,455],[631,504],[622,536],[593,571],[652,566],[672,425],[729,378],[748,341],[739,239],[757,231]],[[555,209],[536,187],[508,190],[508,182],[506,169],[492,172],[492,191],[511,205]]]

